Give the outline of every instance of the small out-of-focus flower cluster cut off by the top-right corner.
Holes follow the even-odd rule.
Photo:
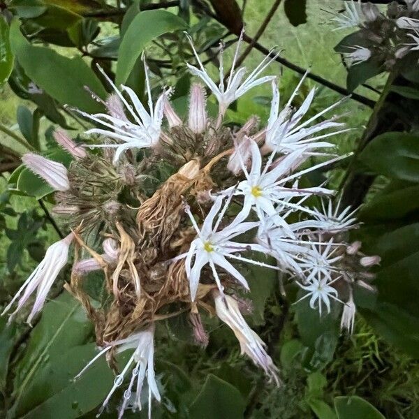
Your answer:
[[[357,28],[336,47],[348,66],[373,63],[381,71],[390,70],[399,60],[419,50],[419,3],[404,0],[405,6],[392,1],[387,13],[373,3],[345,1],[345,9],[335,16],[334,30]]]

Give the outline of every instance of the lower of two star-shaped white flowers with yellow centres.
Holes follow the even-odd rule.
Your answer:
[[[207,264],[211,267],[212,274],[214,275],[214,279],[221,293],[223,293],[223,286],[221,285],[219,275],[216,272],[215,265],[222,267],[223,270],[226,270],[235,279],[237,279],[237,281],[239,281],[240,284],[244,286],[244,288],[249,290],[246,279],[230,262],[228,262],[226,258],[233,258],[242,260],[244,262],[253,263],[255,265],[271,267],[270,265],[257,262],[256,260],[247,259],[242,256],[237,256],[235,254],[251,249],[260,250],[260,246],[258,244],[247,244],[231,241],[234,237],[237,237],[238,235],[241,235],[258,225],[256,222],[242,222],[246,214],[241,212],[228,226],[222,230],[219,230],[220,223],[224,214],[226,213],[230,199],[231,194],[226,200],[226,203],[221,208],[221,205],[223,204],[223,196],[217,197],[201,228],[198,228],[198,225],[196,224],[196,221],[193,218],[189,207],[186,207],[185,209],[198,235],[198,237],[196,237],[196,239],[191,243],[191,247],[186,254],[185,262],[186,274],[188,276],[189,284],[191,287],[192,301],[195,300],[196,297],[201,270]],[[214,219],[217,214],[218,217],[214,223]],[[193,257],[195,257],[195,260],[192,263]],[[276,267],[272,268],[276,269]]]

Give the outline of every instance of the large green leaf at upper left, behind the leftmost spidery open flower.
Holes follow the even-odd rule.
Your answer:
[[[106,91],[81,57],[70,59],[50,48],[34,47],[20,32],[17,20],[10,27],[10,44],[29,78],[61,104],[72,105],[86,112],[102,109],[102,105],[84,87],[89,87],[102,98],[106,96]]]

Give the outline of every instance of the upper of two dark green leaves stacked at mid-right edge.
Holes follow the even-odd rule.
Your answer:
[[[419,137],[397,132],[378,135],[358,161],[378,175],[419,182]]]

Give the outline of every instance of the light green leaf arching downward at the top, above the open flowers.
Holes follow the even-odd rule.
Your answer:
[[[119,47],[117,85],[126,82],[135,61],[149,42],[158,36],[178,29],[186,29],[186,22],[166,10],[146,10],[138,13],[126,30]],[[138,36],[139,34],[141,36]]]

